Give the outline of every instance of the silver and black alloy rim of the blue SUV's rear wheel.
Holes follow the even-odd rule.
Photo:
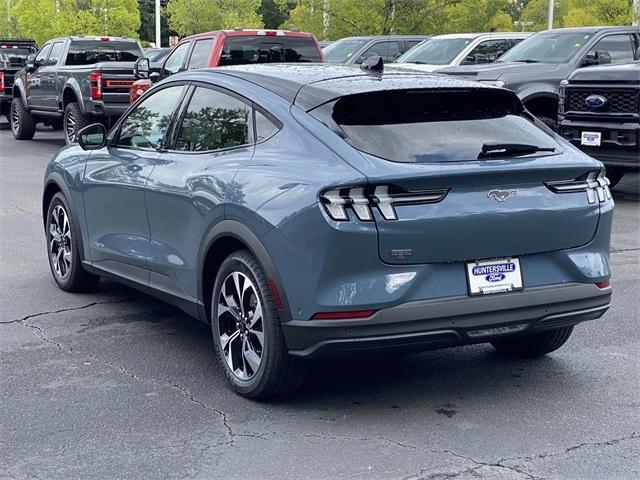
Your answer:
[[[218,297],[220,346],[227,366],[240,380],[258,372],[264,352],[263,310],[253,282],[241,272],[225,278]]]

